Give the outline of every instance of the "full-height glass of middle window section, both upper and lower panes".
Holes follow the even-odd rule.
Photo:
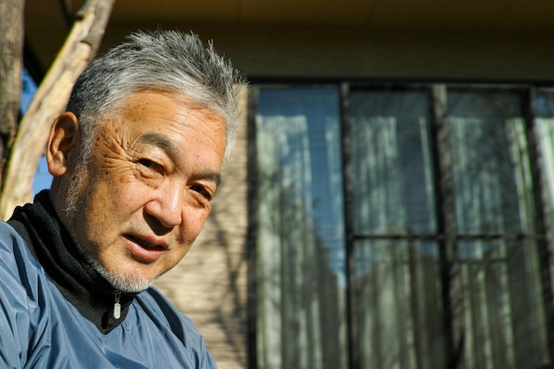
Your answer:
[[[434,234],[435,189],[424,90],[350,93],[354,232]],[[356,241],[353,345],[360,367],[444,364],[435,242]]]

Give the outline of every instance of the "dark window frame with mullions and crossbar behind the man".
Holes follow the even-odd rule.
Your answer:
[[[453,301],[456,301],[459,296],[459,281],[452,278],[456,275],[457,270],[455,263],[451,260],[456,259],[457,244],[460,241],[471,241],[486,237],[487,239],[504,239],[504,234],[473,234],[460,235],[456,230],[455,219],[455,203],[454,189],[452,180],[452,165],[448,156],[439,155],[439,153],[450,152],[448,140],[440,140],[439,137],[446,135],[448,129],[446,119],[446,98],[449,88],[470,88],[484,89],[487,91],[494,90],[515,90],[521,96],[521,105],[523,111],[523,119],[525,121],[525,129],[528,141],[528,155],[531,167],[531,176],[534,182],[533,199],[535,201],[535,230],[533,234],[521,235],[522,238],[534,238],[537,242],[537,247],[541,255],[540,259],[540,275],[542,278],[542,298],[545,302],[544,309],[548,321],[547,342],[550,360],[554,361],[554,304],[552,283],[554,278],[554,269],[551,266],[550,247],[551,240],[548,234],[546,224],[547,219],[546,199],[544,196],[545,188],[542,181],[542,170],[540,165],[540,152],[537,146],[537,136],[535,127],[535,109],[534,101],[537,90],[540,87],[533,85],[518,85],[518,84],[473,84],[473,83],[366,83],[356,81],[339,81],[334,83],[253,83],[249,88],[249,105],[248,105],[248,160],[249,162],[256,158],[256,125],[255,119],[258,112],[258,94],[260,88],[328,88],[335,87],[339,90],[340,101],[340,129],[342,142],[342,178],[343,178],[343,204],[344,204],[344,230],[345,230],[345,253],[347,267],[347,324],[348,324],[348,355],[350,357],[350,369],[360,368],[359,353],[354,345],[351,344],[354,337],[352,336],[352,293],[350,290],[350,281],[353,279],[354,259],[353,247],[358,239],[366,240],[407,240],[407,241],[435,241],[438,243],[440,252],[440,278],[442,285],[442,307],[446,313],[444,319],[444,332],[446,337],[446,357],[458,357],[461,355],[462,332],[459,327],[453,324],[454,319],[451,319],[449,313],[453,311]],[[353,229],[353,199],[352,196],[352,158],[349,150],[349,95],[353,89],[423,89],[427,91],[429,96],[430,111],[430,138],[431,152],[436,160],[433,160],[433,173],[435,173],[435,212],[437,223],[436,234],[387,234],[387,235],[359,235],[354,233]],[[248,271],[248,334],[247,344],[249,348],[249,368],[257,368],[257,332],[256,332],[256,227],[257,219],[255,219],[258,198],[257,198],[257,169],[256,165],[248,166],[248,234],[247,234],[247,252],[249,255],[249,271]],[[550,304],[549,304],[550,302]]]

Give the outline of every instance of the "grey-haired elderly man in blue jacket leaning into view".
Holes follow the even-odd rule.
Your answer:
[[[50,129],[50,191],[0,224],[0,368],[214,368],[156,288],[208,217],[238,119],[212,45],[136,33]]]

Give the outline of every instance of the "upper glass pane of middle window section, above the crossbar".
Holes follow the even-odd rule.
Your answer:
[[[436,232],[428,111],[425,91],[350,92],[356,234]]]

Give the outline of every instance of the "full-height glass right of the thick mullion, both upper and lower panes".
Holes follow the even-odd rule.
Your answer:
[[[458,234],[476,240],[458,242],[460,290],[453,291],[453,300],[461,300],[463,362],[472,369],[536,367],[548,358],[520,107],[521,97],[510,90],[448,95]]]

